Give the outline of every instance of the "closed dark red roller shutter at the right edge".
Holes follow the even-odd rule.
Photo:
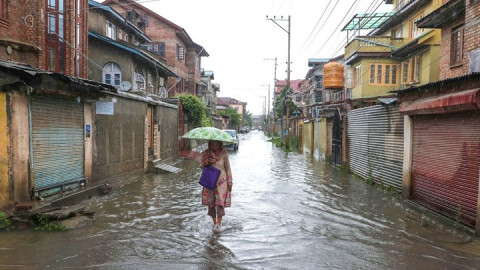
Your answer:
[[[413,127],[412,199],[474,227],[480,115],[414,116]]]

